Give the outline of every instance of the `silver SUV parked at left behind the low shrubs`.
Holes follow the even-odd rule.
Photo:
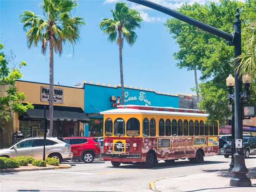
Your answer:
[[[34,159],[42,159],[44,154],[44,137],[30,137],[21,140],[10,148],[1,149],[1,157],[31,156]],[[45,157],[54,157],[61,163],[73,158],[71,146],[62,138],[46,137]]]

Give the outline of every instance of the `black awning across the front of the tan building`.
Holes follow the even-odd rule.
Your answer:
[[[19,120],[36,120],[44,118],[44,105],[34,104],[34,109],[28,109],[23,116],[19,116]],[[46,106],[46,118],[49,118],[49,106]],[[53,118],[55,120],[70,120],[90,122],[90,118],[84,113],[82,108],[78,107],[53,107]]]

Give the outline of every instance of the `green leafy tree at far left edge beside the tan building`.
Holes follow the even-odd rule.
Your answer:
[[[19,93],[15,87],[16,80],[22,77],[20,68],[26,66],[26,62],[22,61],[18,64],[14,64],[9,68],[10,62],[14,60],[12,55],[9,58],[3,52],[4,45],[0,44],[0,84],[1,84],[1,95],[0,95],[0,121],[1,121],[1,145],[5,145],[3,140],[9,140],[12,126],[12,114],[17,113],[18,115],[24,114],[28,109],[34,108],[32,104],[26,102],[24,105],[22,102],[25,100],[24,93]],[[8,139],[7,139],[8,138]]]

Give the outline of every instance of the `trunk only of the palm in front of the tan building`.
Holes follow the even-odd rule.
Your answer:
[[[51,32],[49,32],[51,33]],[[52,136],[52,127],[53,127],[53,37],[52,34],[49,35],[49,48],[50,48],[50,70],[49,70],[49,119],[50,119],[50,129],[48,132],[48,136]]]

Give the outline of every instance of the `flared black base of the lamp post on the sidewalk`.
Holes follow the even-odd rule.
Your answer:
[[[234,154],[234,167],[231,172],[234,174],[234,177],[230,179],[230,186],[252,186],[252,181],[246,176],[249,171],[245,166],[244,154]]]

